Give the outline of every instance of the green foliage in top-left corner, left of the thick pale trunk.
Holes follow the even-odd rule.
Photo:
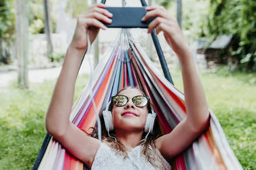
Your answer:
[[[14,3],[12,0],[0,1],[0,39],[10,42],[14,33]]]

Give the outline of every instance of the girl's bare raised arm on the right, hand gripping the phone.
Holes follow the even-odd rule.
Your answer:
[[[164,32],[164,38],[178,56],[182,69],[186,119],[174,130],[156,140],[156,147],[162,155],[171,159],[186,149],[209,126],[209,109],[193,54],[177,21],[162,7],[149,7],[143,19],[156,17],[149,25],[148,32],[156,28],[156,34]]]

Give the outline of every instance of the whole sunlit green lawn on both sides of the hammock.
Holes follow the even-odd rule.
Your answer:
[[[180,71],[173,71],[175,86],[182,89]],[[200,73],[209,108],[220,121],[244,169],[256,167],[256,73]],[[78,77],[75,98],[87,84]],[[0,169],[32,169],[45,136],[45,113],[55,81],[30,84],[20,90],[14,83],[0,90]]]

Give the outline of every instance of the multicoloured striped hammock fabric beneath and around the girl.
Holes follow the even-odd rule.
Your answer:
[[[142,47],[128,37],[127,34],[120,34],[92,75],[96,110],[101,114],[111,96],[121,88],[136,86],[150,97],[158,116],[156,124],[160,125],[162,134],[167,134],[186,117],[184,95],[158,72]],[[88,85],[74,104],[70,120],[86,132],[89,127],[96,126]],[[242,169],[213,112],[209,129],[170,163],[172,169],[178,170]],[[33,169],[82,170],[87,167],[47,134]]]

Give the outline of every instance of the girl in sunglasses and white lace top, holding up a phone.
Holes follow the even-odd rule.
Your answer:
[[[78,16],[45,121],[47,131],[89,169],[171,169],[167,161],[191,145],[209,126],[209,110],[202,84],[178,23],[162,7],[146,9],[148,12],[142,21],[156,17],[149,24],[148,33],[153,29],[156,29],[156,34],[163,32],[180,61],[187,117],[169,134],[143,141],[149,112],[148,97],[137,88],[126,88],[120,90],[111,102],[116,141],[103,138],[100,144],[98,139],[88,136],[70,122],[76,76],[87,50],[86,33],[89,32],[93,42],[99,29],[107,29],[102,22],[111,23],[112,14],[105,10],[105,5],[92,6],[86,14]],[[138,102],[136,96],[140,96],[143,102]]]

